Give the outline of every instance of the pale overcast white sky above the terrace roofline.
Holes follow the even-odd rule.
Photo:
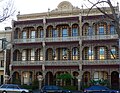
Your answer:
[[[0,23],[0,30],[3,30],[4,27],[6,26],[11,27],[11,20],[16,20],[16,15],[18,14],[18,12],[20,12],[20,14],[31,14],[31,13],[47,12],[48,9],[52,11],[56,9],[59,3],[61,3],[62,1],[69,1],[74,7],[79,7],[79,8],[81,8],[81,6],[83,6],[83,8],[88,8],[92,6],[87,0],[13,0],[13,1],[16,12],[14,16],[9,18],[9,20]],[[90,0],[90,1],[95,3],[98,0]],[[120,0],[111,0],[111,1],[113,5],[117,5],[117,2],[119,2],[120,5]],[[101,4],[101,6],[102,5],[106,5],[106,4],[103,3]]]

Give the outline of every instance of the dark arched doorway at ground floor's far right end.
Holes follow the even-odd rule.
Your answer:
[[[119,88],[119,73],[117,71],[111,73],[111,87],[115,89]]]

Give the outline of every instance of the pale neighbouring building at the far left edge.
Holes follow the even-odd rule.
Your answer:
[[[5,30],[0,31],[0,85],[5,83],[6,76],[10,76],[9,64],[11,63],[11,35],[12,29],[5,27]],[[7,41],[5,49],[2,47],[2,39]]]

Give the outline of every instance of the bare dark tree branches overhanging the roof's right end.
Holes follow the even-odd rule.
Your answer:
[[[93,2],[91,2],[90,0],[88,0],[88,2],[90,2],[90,3],[92,4],[92,7],[89,9],[88,14],[89,14],[89,12],[92,10],[93,7],[97,7],[97,9],[98,9],[101,13],[103,13],[104,15],[106,15],[107,17],[109,17],[110,19],[112,19],[112,20],[115,22],[115,24],[114,24],[114,25],[115,25],[115,29],[116,29],[116,32],[117,32],[117,34],[118,34],[118,37],[120,38],[119,16],[115,13],[115,8],[113,7],[111,1],[110,1],[110,0],[106,0],[106,1],[105,1],[105,0],[102,0],[102,1],[98,0],[96,3],[93,3]],[[110,15],[108,15],[108,14],[104,11],[104,9],[102,9],[102,8],[100,8],[100,7],[97,6],[98,4],[101,4],[101,3],[107,3],[107,4],[109,5],[109,7],[111,8],[111,11],[112,11],[112,17],[111,17]]]

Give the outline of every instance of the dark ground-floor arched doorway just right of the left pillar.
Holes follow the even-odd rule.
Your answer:
[[[54,84],[54,77],[52,72],[47,72],[45,75],[45,85],[53,85]]]

